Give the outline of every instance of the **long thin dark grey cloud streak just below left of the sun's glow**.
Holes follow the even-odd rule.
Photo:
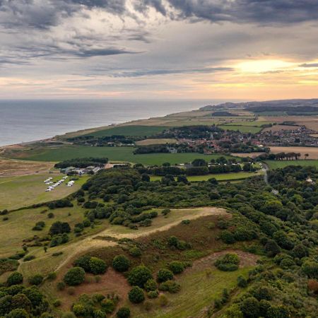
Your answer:
[[[167,74],[183,74],[183,73],[214,73],[217,71],[232,71],[230,67],[207,67],[204,69],[155,69],[141,71],[124,71],[122,73],[113,73],[113,77],[140,77],[140,76],[156,76]]]

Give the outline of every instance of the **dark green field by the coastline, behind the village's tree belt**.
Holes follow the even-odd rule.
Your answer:
[[[95,131],[84,136],[104,137],[112,135],[123,136],[153,136],[167,129],[165,126],[116,126],[110,129]]]

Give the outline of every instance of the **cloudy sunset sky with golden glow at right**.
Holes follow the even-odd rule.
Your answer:
[[[318,0],[0,0],[18,98],[318,98]]]

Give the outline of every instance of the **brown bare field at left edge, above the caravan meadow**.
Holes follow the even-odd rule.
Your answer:
[[[0,177],[49,172],[53,166],[53,163],[47,162],[0,159]]]

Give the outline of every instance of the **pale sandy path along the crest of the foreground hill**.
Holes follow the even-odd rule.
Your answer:
[[[183,208],[182,210],[191,210],[195,211],[196,208]],[[198,213],[193,213],[192,216],[187,216],[187,219],[194,220],[196,218],[201,218],[202,216],[216,216],[216,215],[228,215],[230,214],[224,209],[224,208],[213,208],[213,207],[203,207],[203,208],[197,208]],[[130,238],[130,239],[136,239],[138,237],[143,237],[147,235],[151,235],[155,232],[163,232],[165,230],[169,230],[170,228],[174,227],[175,225],[178,225],[180,223],[181,219],[176,220],[172,223],[169,223],[167,225],[163,225],[160,228],[147,228],[147,230],[143,230],[143,232],[131,232],[127,234],[119,234],[119,233],[112,233],[109,229],[102,230],[101,232],[98,232],[98,234],[92,235],[90,237],[87,237],[86,239],[75,242],[67,247],[65,249],[61,249],[64,254],[67,254],[66,259],[64,259],[61,264],[57,267],[57,271],[61,269],[65,264],[69,263],[73,257],[75,257],[78,254],[82,254],[84,252],[88,252],[89,250],[98,249],[102,247],[110,247],[117,245],[117,242],[112,242],[109,240],[99,240],[98,237],[107,236],[107,237],[114,237],[114,239],[121,239],[121,238]]]

